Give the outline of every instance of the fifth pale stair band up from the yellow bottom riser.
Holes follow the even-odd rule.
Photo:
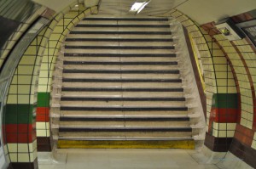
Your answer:
[[[183,92],[61,92],[63,96],[104,97],[183,97]]]

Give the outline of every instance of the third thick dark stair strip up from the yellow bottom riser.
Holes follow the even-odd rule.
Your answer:
[[[91,111],[184,111],[188,110],[187,107],[124,107],[124,106],[112,106],[112,107],[72,107],[61,106],[61,110],[91,110]]]

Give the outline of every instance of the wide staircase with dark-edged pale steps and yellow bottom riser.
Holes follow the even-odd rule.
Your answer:
[[[58,148],[194,149],[166,18],[85,18],[61,59]]]

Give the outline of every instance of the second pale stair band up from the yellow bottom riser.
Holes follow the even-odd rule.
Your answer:
[[[60,121],[61,127],[189,127],[189,121]]]

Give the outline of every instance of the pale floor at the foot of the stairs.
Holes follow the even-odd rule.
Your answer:
[[[195,150],[61,149],[61,152],[67,153],[61,163],[42,161],[39,155],[39,169],[218,169],[215,165],[197,163],[191,156]]]

